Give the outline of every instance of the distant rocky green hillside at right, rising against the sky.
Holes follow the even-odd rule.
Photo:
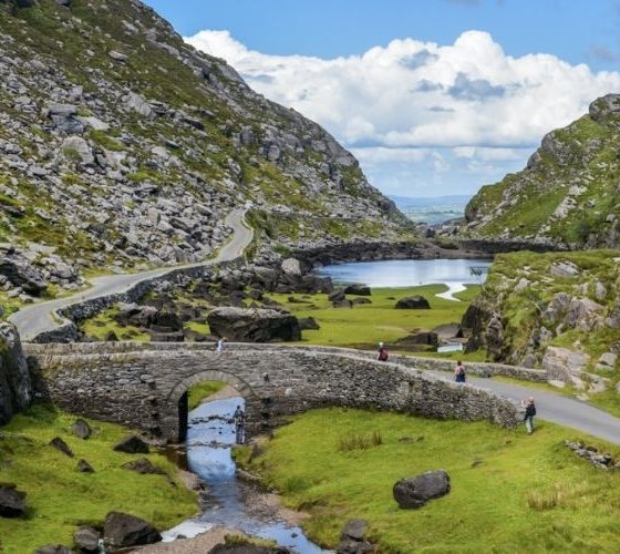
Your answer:
[[[620,247],[620,95],[542,138],[527,167],[483,186],[465,236],[556,248]]]

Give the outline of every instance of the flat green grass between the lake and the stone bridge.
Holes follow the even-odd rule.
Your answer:
[[[327,295],[292,295],[311,304],[294,304],[287,299],[291,295],[269,295],[285,305],[297,317],[313,317],[321,326],[319,330],[303,331],[303,342],[322,346],[374,348],[379,341],[392,342],[406,337],[416,329],[430,330],[438,325],[459,322],[469,301],[479,290],[468,286],[456,295],[464,301],[437,298],[446,290],[445,285],[427,285],[405,288],[373,288],[372,304],[350,308],[332,308]],[[397,310],[396,300],[405,296],[422,295],[431,304],[427,310]],[[350,298],[354,298],[351,296]],[[392,298],[392,299],[391,299]]]

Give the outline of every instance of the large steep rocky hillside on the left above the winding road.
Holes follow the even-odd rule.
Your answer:
[[[0,0],[0,73],[10,296],[202,259],[241,205],[282,247],[386,238],[406,222],[323,129],[137,0]]]

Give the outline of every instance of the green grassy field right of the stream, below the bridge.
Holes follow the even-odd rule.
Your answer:
[[[330,547],[349,519],[363,517],[382,553],[618,552],[620,474],[564,447],[575,431],[537,423],[528,437],[523,427],[321,409],[278,429],[249,466],[309,512],[304,530]],[[248,454],[237,458],[247,465]],[[436,469],[450,473],[452,492],[400,510],[394,482]]]

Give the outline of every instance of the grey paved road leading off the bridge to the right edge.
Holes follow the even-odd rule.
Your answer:
[[[428,371],[441,379],[451,379],[448,372]],[[574,400],[561,394],[529,389],[527,386],[506,383],[494,379],[468,377],[467,382],[484,389],[493,390],[503,397],[520,401],[524,398],[536,399],[537,417],[554,423],[578,429],[592,437],[620,444],[620,419],[599,410],[586,402]]]

